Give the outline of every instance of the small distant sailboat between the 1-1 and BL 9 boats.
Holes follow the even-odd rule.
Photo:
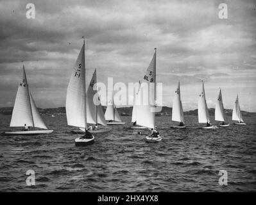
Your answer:
[[[117,111],[117,108],[114,103],[114,95],[112,92],[112,99],[108,102],[107,110],[105,111],[105,119],[108,120],[107,125],[122,125],[125,122],[122,122],[121,117]]]

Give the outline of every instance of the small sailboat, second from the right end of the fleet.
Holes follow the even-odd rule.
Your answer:
[[[225,116],[224,107],[223,107],[221,88],[219,88],[219,95],[218,95],[218,99],[217,99],[217,102],[216,102],[215,120],[222,122],[222,124],[219,125],[221,127],[228,127],[229,126],[229,124],[225,123],[226,122],[226,116]]]

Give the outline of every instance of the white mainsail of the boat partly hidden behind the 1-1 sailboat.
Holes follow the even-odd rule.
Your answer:
[[[87,89],[86,116],[87,116],[87,123],[90,123],[90,124],[96,124],[96,121],[97,121],[97,108],[96,108],[96,104],[94,104],[94,97],[97,97],[97,90],[93,89],[93,86],[95,83],[96,83],[96,70],[92,74],[92,79],[90,80],[90,84]]]

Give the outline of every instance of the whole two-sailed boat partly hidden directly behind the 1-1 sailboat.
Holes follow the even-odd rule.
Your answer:
[[[90,80],[89,87],[87,89],[87,123],[90,124],[101,124],[107,126],[101,101],[98,96],[98,91],[94,90],[94,85],[97,83],[97,71],[94,70],[92,79]],[[94,102],[94,99],[96,102]],[[108,127],[99,127],[98,129],[89,129],[90,133],[108,133],[111,129]],[[71,131],[72,133],[85,133],[85,128],[80,127],[80,131]]]

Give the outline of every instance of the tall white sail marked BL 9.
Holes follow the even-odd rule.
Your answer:
[[[143,127],[154,128],[155,127],[155,82],[156,82],[156,54],[149,64],[148,69],[144,75],[141,83],[139,94],[137,96],[137,125]],[[144,93],[147,94],[144,97]],[[145,99],[146,98],[146,99]]]

